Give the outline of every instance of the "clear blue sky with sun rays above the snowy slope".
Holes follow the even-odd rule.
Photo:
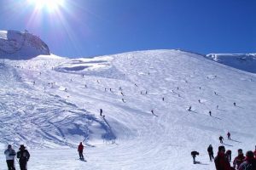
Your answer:
[[[54,2],[57,0],[51,0]],[[29,31],[63,57],[175,49],[256,53],[255,0],[1,0],[0,30]]]

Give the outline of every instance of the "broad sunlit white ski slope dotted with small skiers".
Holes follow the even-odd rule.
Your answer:
[[[219,135],[232,159],[254,149],[255,74],[198,54],[39,55],[0,67],[0,148],[25,144],[29,169],[214,169],[207,147],[216,156]]]

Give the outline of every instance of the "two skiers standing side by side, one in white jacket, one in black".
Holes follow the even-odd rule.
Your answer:
[[[20,170],[27,170],[27,161],[29,161],[30,154],[26,150],[24,144],[20,145],[19,151],[16,153],[14,149],[12,149],[12,145],[8,145],[8,149],[4,150],[4,155],[6,156],[6,163],[9,170],[15,170],[15,156],[19,159]]]

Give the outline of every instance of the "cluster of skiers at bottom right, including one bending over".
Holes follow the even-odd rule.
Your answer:
[[[242,150],[237,150],[237,156],[233,161],[233,167],[230,166],[231,150],[225,150],[224,145],[218,146],[217,156],[213,156],[212,144],[207,148],[210,161],[214,160],[216,170],[256,170],[256,145],[254,152],[248,150],[246,156],[243,156]],[[195,156],[199,156],[199,152],[192,151],[193,163],[200,163],[195,161]]]

